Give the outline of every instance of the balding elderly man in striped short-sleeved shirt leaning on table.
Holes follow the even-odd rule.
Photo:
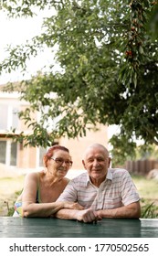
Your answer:
[[[82,164],[87,172],[73,178],[58,201],[78,202],[83,209],[61,209],[57,218],[84,222],[140,218],[140,197],[132,177],[125,169],[110,168],[111,158],[102,144],[90,145]]]

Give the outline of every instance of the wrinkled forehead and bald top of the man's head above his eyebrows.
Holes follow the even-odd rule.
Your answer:
[[[90,157],[99,157],[99,156],[103,156],[105,158],[109,157],[108,150],[101,145],[90,146],[86,150],[85,154],[83,155],[83,159],[89,159]]]

